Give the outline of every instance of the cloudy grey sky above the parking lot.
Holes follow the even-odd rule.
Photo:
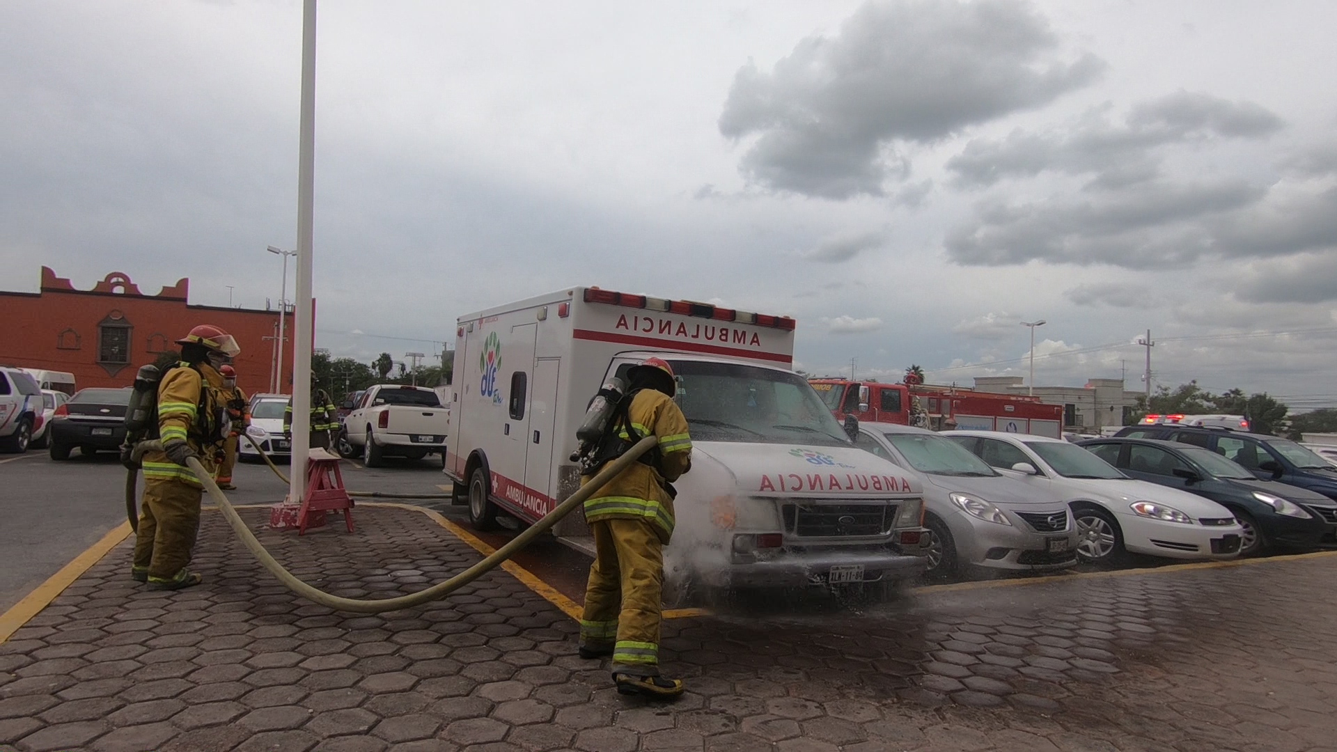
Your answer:
[[[1332,404],[1337,4],[324,0],[318,345],[576,284],[800,321],[813,372]],[[297,0],[0,3],[0,288],[263,308]],[[389,339],[402,337],[402,339]],[[421,340],[421,341],[418,341]]]

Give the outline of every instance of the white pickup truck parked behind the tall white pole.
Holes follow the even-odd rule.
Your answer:
[[[372,387],[344,417],[349,454],[361,454],[368,467],[380,467],[388,455],[422,459],[445,450],[449,412],[427,387],[381,384]]]

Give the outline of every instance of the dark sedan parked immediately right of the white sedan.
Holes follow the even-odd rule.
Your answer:
[[[1086,447],[1126,475],[1206,496],[1243,527],[1241,555],[1273,549],[1337,546],[1337,503],[1277,480],[1259,480],[1229,459],[1189,444],[1157,439],[1091,439]]]

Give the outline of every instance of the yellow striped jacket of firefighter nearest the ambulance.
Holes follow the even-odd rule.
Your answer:
[[[691,438],[682,409],[663,392],[642,389],[627,409],[631,428],[643,436],[659,439],[655,467],[635,462],[586,500],[586,519],[648,519],[659,541],[668,543],[674,529],[673,496],[664,483],[673,483],[691,468]],[[620,435],[632,439],[626,427]],[[587,483],[588,478],[580,482]]]

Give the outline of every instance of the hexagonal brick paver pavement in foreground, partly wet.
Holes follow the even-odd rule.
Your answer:
[[[358,525],[261,538],[353,597],[477,561],[416,511]],[[1337,558],[675,620],[662,660],[690,692],[664,705],[618,696],[501,571],[349,616],[274,583],[218,514],[201,539],[205,585],[143,589],[126,545],[0,645],[0,748],[1337,751]]]

